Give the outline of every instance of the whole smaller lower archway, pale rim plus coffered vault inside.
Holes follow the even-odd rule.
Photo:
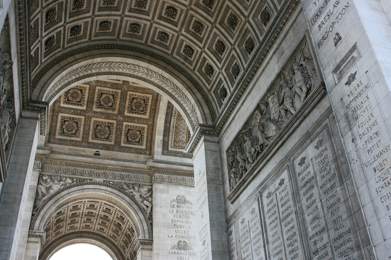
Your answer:
[[[46,233],[42,260],[76,238],[103,244],[118,260],[135,259],[140,240],[152,243],[142,207],[106,183],[76,183],[50,195],[36,210],[30,229]]]

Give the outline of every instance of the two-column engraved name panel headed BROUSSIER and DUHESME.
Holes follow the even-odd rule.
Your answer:
[[[356,241],[326,130],[294,161],[314,259],[358,259]]]

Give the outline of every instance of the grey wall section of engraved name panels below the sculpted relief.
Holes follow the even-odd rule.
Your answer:
[[[330,127],[324,121],[303,136],[228,218],[231,260],[365,259],[362,219]]]

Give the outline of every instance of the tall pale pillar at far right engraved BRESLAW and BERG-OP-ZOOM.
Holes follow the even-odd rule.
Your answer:
[[[356,196],[378,259],[391,246],[391,25],[385,1],[302,0]],[[383,5],[382,5],[383,4]],[[386,10],[385,10],[386,9]],[[343,255],[344,256],[344,255]]]

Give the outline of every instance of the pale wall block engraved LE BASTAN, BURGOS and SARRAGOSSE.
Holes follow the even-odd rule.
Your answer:
[[[153,255],[157,259],[196,260],[194,188],[154,183]]]

